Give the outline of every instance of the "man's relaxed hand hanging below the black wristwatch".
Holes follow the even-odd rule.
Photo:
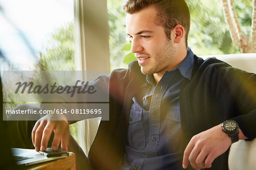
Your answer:
[[[222,131],[221,124],[193,136],[184,151],[183,168],[188,163],[195,169],[212,167],[216,157],[224,154],[232,144],[231,138]]]

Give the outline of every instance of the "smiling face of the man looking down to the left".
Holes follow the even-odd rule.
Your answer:
[[[131,39],[131,52],[143,74],[164,73],[172,68],[175,49],[162,26],[156,23],[154,6],[126,16],[126,32]]]

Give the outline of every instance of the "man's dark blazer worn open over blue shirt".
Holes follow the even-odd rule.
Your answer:
[[[195,57],[191,80],[180,90],[183,148],[193,135],[233,118],[249,139],[256,136],[256,75],[223,61]],[[137,61],[129,69],[117,69],[109,77],[109,121],[101,121],[89,152],[95,169],[118,169],[123,163],[131,98],[139,93],[146,76]],[[192,169],[191,167],[187,169]],[[210,169],[228,169],[228,151]]]

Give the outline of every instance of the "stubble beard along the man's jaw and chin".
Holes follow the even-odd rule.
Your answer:
[[[164,47],[159,49],[153,56],[155,62],[151,63],[150,65],[146,65],[146,67],[141,66],[141,72],[147,75],[159,73],[163,69],[166,69],[174,60],[175,49],[173,46],[174,45],[170,40],[166,40]],[[152,56],[150,55],[150,57]]]

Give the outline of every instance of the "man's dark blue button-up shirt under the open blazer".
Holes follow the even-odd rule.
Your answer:
[[[130,110],[124,169],[183,169],[179,92],[185,78],[191,80],[193,52],[164,73],[158,84],[146,76]]]

